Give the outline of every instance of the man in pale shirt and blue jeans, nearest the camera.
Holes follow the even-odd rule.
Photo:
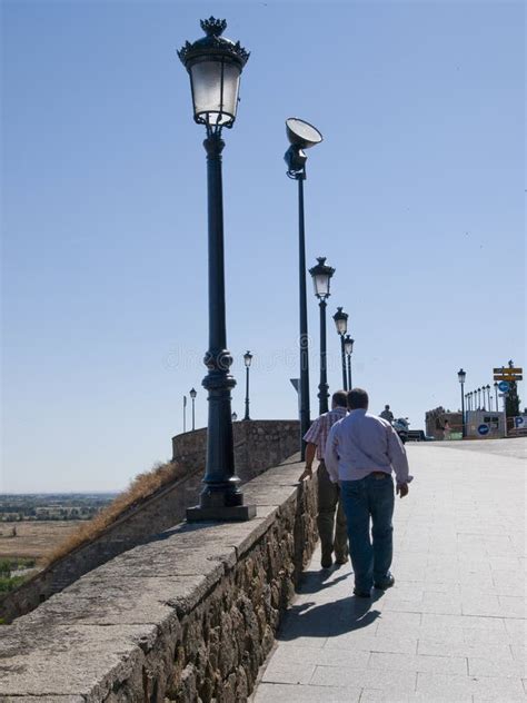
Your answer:
[[[408,494],[412,476],[408,473],[405,447],[390,423],[367,413],[366,390],[349,392],[348,409],[349,415],[331,427],[325,458],[331,481],[340,484],[355,572],[354,593],[370,597],[372,586],[384,591],[395,583],[390,572],[394,549],[391,471],[401,498]]]

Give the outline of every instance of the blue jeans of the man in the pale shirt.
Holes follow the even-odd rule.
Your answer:
[[[384,585],[390,576],[394,553],[394,481],[388,474],[369,474],[360,481],[342,481],[340,488],[340,499],[348,523],[355,587],[357,591],[368,592],[374,583]],[[374,544],[370,539],[370,517]]]

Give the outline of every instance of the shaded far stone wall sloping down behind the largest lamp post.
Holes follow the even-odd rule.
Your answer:
[[[242,481],[278,464],[298,448],[299,423],[296,420],[243,422],[235,423],[233,428],[235,465]],[[183,467],[183,477],[129,508],[97,539],[72,551],[3,596],[0,600],[0,617],[11,622],[31,612],[83,574],[185,519],[187,507],[199,501],[206,440],[206,429],[173,437],[173,457]]]

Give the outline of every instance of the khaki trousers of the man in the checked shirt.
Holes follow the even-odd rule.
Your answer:
[[[335,524],[337,512],[337,524]],[[346,515],[340,502],[340,488],[329,478],[324,461],[318,465],[318,534],[322,547],[322,558],[335,552],[337,560],[348,556],[348,534]]]

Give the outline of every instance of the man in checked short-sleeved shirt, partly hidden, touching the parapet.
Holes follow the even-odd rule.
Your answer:
[[[322,548],[320,564],[322,568],[329,568],[332,564],[332,553],[337,564],[346,564],[348,561],[348,535],[346,528],[346,516],[340,504],[340,487],[332,483],[324,461],[326,442],[329,430],[338,420],[346,417],[347,394],[345,390],[337,390],[331,397],[331,410],[320,415],[309,427],[304,436],[307,442],[306,468],[299,481],[311,478],[312,462],[315,455],[318,464],[318,534]],[[335,515],[337,511],[337,516]],[[335,521],[337,517],[337,521]],[[337,524],[335,524],[337,522]]]

